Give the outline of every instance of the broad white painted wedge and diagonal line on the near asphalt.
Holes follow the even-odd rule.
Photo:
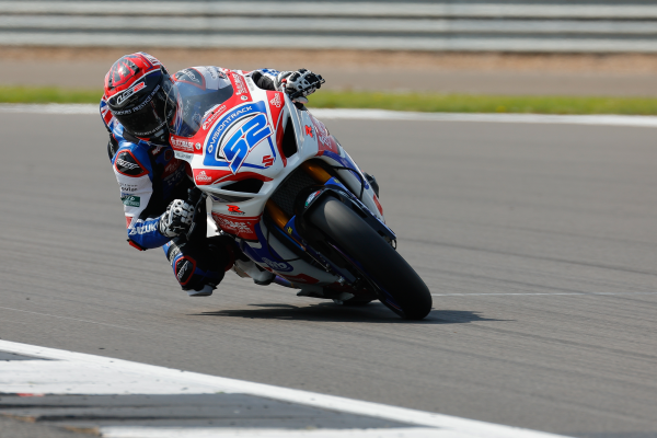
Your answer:
[[[0,350],[54,360],[0,362],[0,392],[32,394],[239,393],[324,410],[436,427],[451,437],[549,438],[555,435],[450,415],[361,402],[108,357],[0,341]],[[20,362],[20,364],[19,364]],[[445,435],[446,437],[449,435]]]

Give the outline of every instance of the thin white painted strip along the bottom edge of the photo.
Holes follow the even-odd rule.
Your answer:
[[[461,431],[425,427],[390,429],[233,429],[211,427],[101,427],[103,438],[473,438]]]

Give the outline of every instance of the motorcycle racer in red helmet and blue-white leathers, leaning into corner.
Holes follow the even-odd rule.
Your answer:
[[[181,73],[187,79],[206,76],[204,81],[210,77],[226,79],[218,67],[185,69]],[[321,76],[306,69],[262,69],[249,74],[258,88],[285,91],[298,104],[307,103],[306,97],[323,82]],[[107,152],[120,187],[128,243],[140,251],[162,246],[182,289],[192,297],[203,297],[212,293],[235,258],[245,257],[240,257],[229,237],[205,238],[205,203],[195,205],[188,198],[194,187],[191,170],[174,157],[166,129],[171,117],[168,112],[175,108],[175,104],[168,105],[175,80],[153,56],[126,55],[105,77],[100,111],[110,131]],[[203,218],[195,232],[203,239],[192,242],[186,234],[195,209]],[[256,283],[272,281],[270,273],[249,263],[253,266],[245,265],[244,270]]]

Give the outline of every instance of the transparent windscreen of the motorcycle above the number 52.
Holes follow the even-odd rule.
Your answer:
[[[169,120],[171,134],[193,137],[211,111],[233,95],[230,79],[217,67],[192,67],[178,71],[168,102],[176,111]]]

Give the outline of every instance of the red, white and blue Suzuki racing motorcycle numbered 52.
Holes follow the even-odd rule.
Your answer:
[[[211,200],[208,233],[232,237],[255,263],[237,261],[241,277],[425,318],[431,295],[396,252],[376,180],[297,97],[262,90],[241,70],[175,74],[170,142],[189,163],[198,203]]]

